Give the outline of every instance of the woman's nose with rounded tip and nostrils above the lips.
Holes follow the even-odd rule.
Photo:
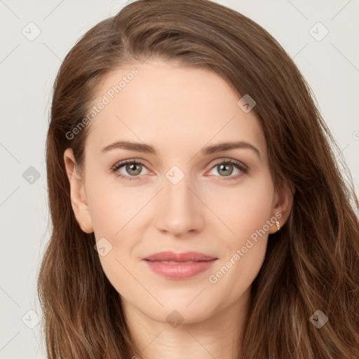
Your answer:
[[[202,231],[205,205],[189,176],[177,183],[163,179],[163,190],[156,202],[155,225],[158,231],[184,237]]]

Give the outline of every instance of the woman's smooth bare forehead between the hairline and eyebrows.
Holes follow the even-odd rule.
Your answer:
[[[163,144],[167,151],[194,151],[208,142],[246,140],[264,152],[255,111],[245,113],[239,99],[209,69],[133,62],[109,73],[97,88],[86,147],[98,154],[106,144],[126,139],[159,150]]]

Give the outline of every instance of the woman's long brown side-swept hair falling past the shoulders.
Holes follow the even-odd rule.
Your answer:
[[[48,358],[141,358],[121,299],[76,222],[63,154],[81,172],[88,126],[74,133],[104,76],[131,61],[161,57],[206,67],[257,102],[279,188],[295,189],[287,223],[269,236],[252,283],[241,359],[358,359],[358,199],[309,85],[285,50],[255,22],[207,0],[139,0],[90,29],[55,81],[46,141],[52,235],[39,273]],[[344,165],[344,169],[347,170]],[[329,318],[318,329],[316,311]]]

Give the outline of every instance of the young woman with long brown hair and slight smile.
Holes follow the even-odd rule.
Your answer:
[[[359,225],[309,86],[207,0],[76,43],[47,137],[48,358],[359,357]]]

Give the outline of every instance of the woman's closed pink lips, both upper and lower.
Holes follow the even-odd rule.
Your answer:
[[[207,271],[217,258],[198,252],[160,252],[143,259],[155,273],[172,280],[184,280]]]

